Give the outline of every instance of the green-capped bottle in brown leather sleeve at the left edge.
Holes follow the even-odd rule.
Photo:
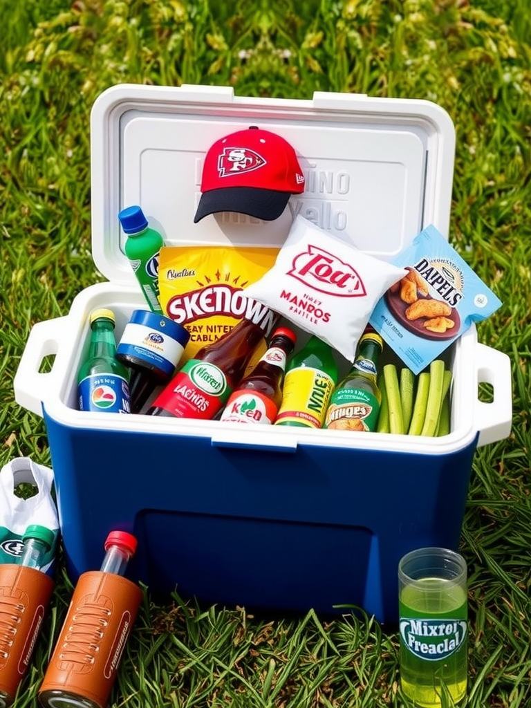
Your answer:
[[[28,526],[20,563],[0,565],[0,708],[15,700],[50,603],[54,581],[40,568],[54,539],[50,529]]]

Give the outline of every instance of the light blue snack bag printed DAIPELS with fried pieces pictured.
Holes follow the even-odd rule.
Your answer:
[[[408,273],[382,295],[369,321],[414,374],[473,322],[501,307],[501,300],[433,225],[392,263]]]

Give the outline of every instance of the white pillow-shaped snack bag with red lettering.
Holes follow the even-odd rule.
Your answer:
[[[373,307],[405,274],[298,215],[273,268],[245,294],[353,362]]]

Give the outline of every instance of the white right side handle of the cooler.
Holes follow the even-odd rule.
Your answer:
[[[484,344],[476,344],[477,383],[491,384],[493,400],[476,400],[474,421],[479,431],[478,447],[508,438],[513,421],[513,386],[508,355]]]

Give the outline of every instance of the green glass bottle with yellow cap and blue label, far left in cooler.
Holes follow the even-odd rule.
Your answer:
[[[90,323],[89,355],[77,377],[79,410],[130,413],[129,371],[116,358],[114,312],[95,309]]]

